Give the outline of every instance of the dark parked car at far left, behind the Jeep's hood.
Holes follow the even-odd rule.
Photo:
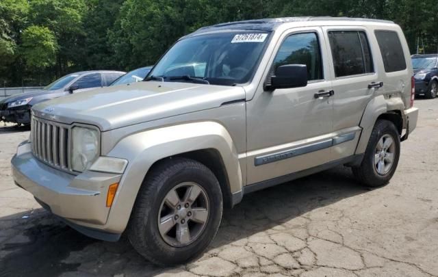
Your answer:
[[[30,124],[30,108],[36,103],[83,92],[92,88],[106,87],[124,75],[123,71],[93,70],[71,73],[57,79],[36,92],[14,94],[0,101],[0,120],[18,124]]]

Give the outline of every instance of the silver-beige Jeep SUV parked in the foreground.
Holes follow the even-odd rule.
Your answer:
[[[81,233],[185,263],[250,192],[337,165],[387,184],[417,124],[412,76],[389,21],[205,27],[145,81],[36,105],[14,180]]]

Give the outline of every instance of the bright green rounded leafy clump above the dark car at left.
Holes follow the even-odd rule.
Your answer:
[[[53,31],[32,25],[23,31],[21,38],[21,55],[27,66],[44,69],[55,64],[58,46]]]

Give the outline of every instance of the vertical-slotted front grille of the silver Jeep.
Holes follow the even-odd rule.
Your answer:
[[[32,116],[32,153],[40,161],[61,170],[71,171],[69,140],[70,128],[68,125]]]

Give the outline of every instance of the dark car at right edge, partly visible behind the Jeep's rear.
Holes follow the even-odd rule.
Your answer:
[[[435,98],[438,92],[438,54],[413,55],[415,95]]]

